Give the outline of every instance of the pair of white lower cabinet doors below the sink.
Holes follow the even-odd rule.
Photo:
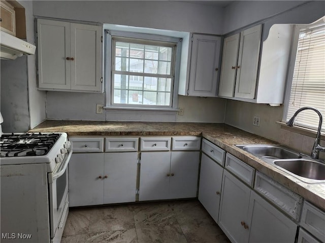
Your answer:
[[[295,242],[297,224],[223,172],[219,226],[232,242]]]

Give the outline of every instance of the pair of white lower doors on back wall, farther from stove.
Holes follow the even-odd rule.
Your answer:
[[[199,151],[142,152],[139,200],[197,196]]]

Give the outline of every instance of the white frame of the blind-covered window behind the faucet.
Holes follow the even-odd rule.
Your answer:
[[[289,60],[289,69],[288,69],[288,75],[287,75],[287,82],[286,82],[286,88],[285,88],[285,98],[284,98],[284,107],[283,107],[283,115],[282,115],[282,123],[287,123],[287,113],[289,109],[289,102],[290,102],[290,94],[291,94],[291,88],[293,84],[293,78],[294,78],[294,71],[295,71],[295,64],[296,64],[296,58],[297,58],[297,50],[298,50],[298,42],[299,42],[299,35],[300,32],[306,28],[311,28],[313,26],[317,26],[320,24],[323,24],[325,22],[325,19],[322,17],[319,20],[310,23],[310,24],[296,24],[294,26],[293,31],[293,38],[292,38],[292,45],[291,45],[291,51],[290,51],[290,60]],[[323,115],[323,119],[325,114]],[[306,132],[308,131],[316,131],[314,127],[309,126],[296,126],[299,130],[304,130]],[[321,135],[324,136],[325,133],[322,131]]]

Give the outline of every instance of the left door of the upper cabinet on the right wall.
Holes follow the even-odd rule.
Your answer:
[[[239,35],[234,34],[223,41],[219,96],[234,97]]]

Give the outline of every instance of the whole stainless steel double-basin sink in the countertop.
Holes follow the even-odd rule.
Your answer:
[[[236,145],[307,183],[325,183],[325,163],[280,145]]]

